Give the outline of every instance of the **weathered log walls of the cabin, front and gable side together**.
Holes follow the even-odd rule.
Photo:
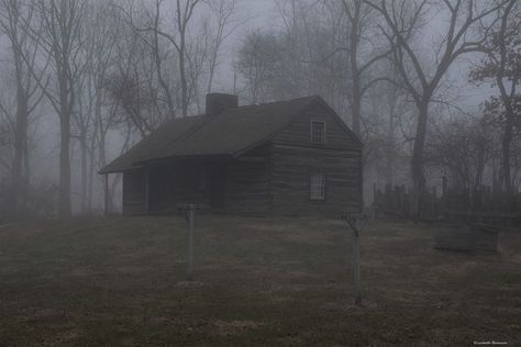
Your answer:
[[[337,217],[358,212],[362,148],[328,112],[317,105],[239,158],[177,159],[128,171],[123,211],[168,213],[176,210],[176,203],[196,202],[214,211],[244,214]],[[311,121],[325,122],[325,144],[311,142]],[[310,200],[311,174],[325,175],[324,201]]]

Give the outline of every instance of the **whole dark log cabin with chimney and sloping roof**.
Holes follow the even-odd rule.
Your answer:
[[[100,174],[123,172],[123,213],[202,203],[241,214],[328,215],[362,209],[362,143],[320,97],[237,107],[207,96]]]

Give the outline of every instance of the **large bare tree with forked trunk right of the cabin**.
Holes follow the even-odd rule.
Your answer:
[[[392,46],[392,57],[400,74],[401,83],[409,92],[418,109],[414,144],[411,158],[411,175],[414,189],[414,210],[419,213],[421,194],[425,188],[423,172],[423,150],[429,120],[429,105],[440,87],[442,78],[459,56],[477,52],[487,37],[473,35],[478,25],[486,23],[500,4],[479,1],[366,1],[377,10],[385,25],[381,33]],[[424,16],[432,11],[447,13],[448,25],[435,45],[434,59],[424,59],[413,46],[413,36],[423,25]],[[489,24],[491,25],[491,24]],[[409,68],[409,66],[411,68]]]

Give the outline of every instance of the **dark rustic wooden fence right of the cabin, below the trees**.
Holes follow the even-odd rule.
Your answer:
[[[446,186],[441,191],[437,187],[431,187],[420,198],[418,214],[414,214],[413,201],[411,189],[404,186],[374,188],[373,208],[376,216],[521,228],[521,193],[512,197],[486,186],[472,193],[447,189]]]

